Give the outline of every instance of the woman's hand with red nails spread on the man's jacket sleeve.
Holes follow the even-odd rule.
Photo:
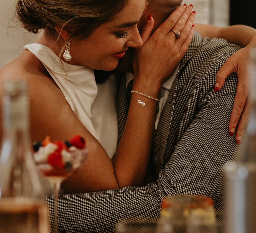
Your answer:
[[[226,78],[235,72],[238,76],[237,92],[234,99],[234,107],[230,116],[229,122],[229,132],[230,136],[233,136],[235,128],[236,131],[236,141],[240,144],[243,134],[246,130],[249,121],[249,105],[247,103],[247,98],[249,95],[249,77],[248,77],[248,63],[249,52],[252,48],[256,47],[256,39],[252,40],[251,43],[243,49],[240,49],[234,53],[224,65],[221,67],[216,76],[215,91],[220,90]]]

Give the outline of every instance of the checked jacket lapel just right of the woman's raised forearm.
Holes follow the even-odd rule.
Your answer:
[[[187,125],[182,127],[181,120],[189,96],[189,90],[186,90],[186,77],[190,75],[189,72],[192,72],[192,70],[185,72],[185,75],[183,74],[183,71],[185,70],[187,62],[200,48],[201,43],[201,36],[195,32],[193,40],[181,60],[179,71],[174,79],[168,99],[162,110],[153,140],[153,162],[156,177],[158,177],[159,172],[169,161],[179,138],[187,127]],[[182,92],[183,94],[180,94]]]

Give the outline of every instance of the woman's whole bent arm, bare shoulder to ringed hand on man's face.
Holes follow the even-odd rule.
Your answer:
[[[190,44],[194,14],[184,6],[179,7],[150,38],[153,20],[148,21],[141,34],[145,43],[137,52],[136,64],[140,65],[135,66],[133,88],[157,98],[162,83],[175,70]],[[170,32],[176,26],[175,22],[179,26],[182,22],[186,23],[179,40]],[[156,61],[153,62],[152,57]],[[144,184],[156,116],[155,100],[132,94],[124,133],[111,162],[104,148],[72,111],[43,65],[29,51],[23,51],[14,62],[5,66],[0,71],[0,77],[0,99],[3,84],[13,77],[28,83],[33,140],[42,140],[46,135],[50,135],[52,140],[65,140],[74,134],[80,134],[86,139],[89,151],[87,158],[63,182],[64,189],[69,192],[89,192]],[[141,100],[146,106],[142,106],[137,100]]]

